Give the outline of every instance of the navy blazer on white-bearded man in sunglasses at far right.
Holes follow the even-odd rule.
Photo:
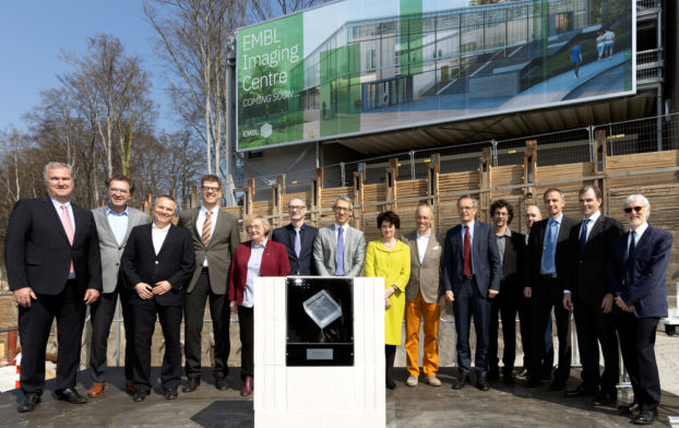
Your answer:
[[[667,317],[665,275],[674,237],[667,230],[648,225],[636,242],[632,259],[628,260],[629,236],[628,231],[614,241],[608,259],[610,288],[615,296],[634,308],[638,318]],[[617,306],[615,309],[620,310]]]

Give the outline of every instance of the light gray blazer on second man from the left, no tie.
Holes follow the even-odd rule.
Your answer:
[[[120,278],[119,268],[120,258],[124,246],[128,243],[130,231],[134,226],[140,226],[150,223],[148,216],[143,212],[128,206],[128,230],[124,233],[124,239],[122,243],[118,246],[118,241],[114,236],[114,230],[108,224],[106,218],[107,206],[99,206],[92,210],[94,215],[94,223],[97,226],[97,235],[99,236],[99,251],[102,253],[102,280],[104,284],[103,293],[114,293],[118,286]]]

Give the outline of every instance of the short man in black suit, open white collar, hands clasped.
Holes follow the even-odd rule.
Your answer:
[[[184,289],[195,268],[191,233],[172,225],[177,204],[159,197],[153,207],[153,223],[132,229],[120,268],[130,296],[134,324],[134,394],[143,401],[151,391],[151,341],[156,314],[165,337],[160,380],[167,400],[177,397],[181,378],[181,307]]]

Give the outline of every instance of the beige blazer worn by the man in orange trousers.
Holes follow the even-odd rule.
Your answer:
[[[436,304],[439,300],[441,282],[441,259],[443,258],[443,242],[441,235],[433,231],[433,238],[429,238],[427,251],[422,263],[419,263],[419,249],[417,248],[417,230],[413,230],[401,237],[410,247],[410,280],[405,287],[405,299],[413,301],[417,292],[421,290],[422,299],[427,304]]]

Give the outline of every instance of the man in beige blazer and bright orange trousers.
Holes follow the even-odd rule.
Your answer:
[[[443,237],[431,229],[433,211],[429,205],[415,210],[417,230],[401,239],[410,247],[410,280],[405,287],[405,352],[408,370],[408,387],[417,385],[419,366],[419,321],[424,320],[425,346],[422,371],[431,387],[441,387],[437,378],[439,370],[439,282],[441,280],[441,257]]]

